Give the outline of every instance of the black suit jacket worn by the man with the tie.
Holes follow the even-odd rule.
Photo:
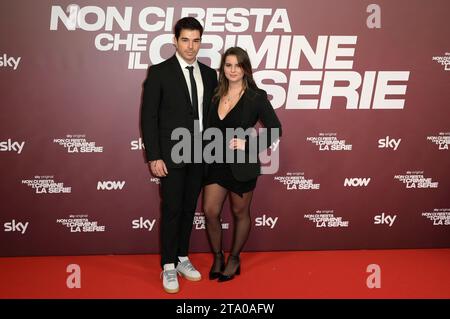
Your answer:
[[[203,127],[209,113],[217,73],[198,62],[203,81]],[[199,85],[199,83],[197,83]],[[178,141],[171,140],[172,131],[186,128],[194,132],[194,116],[188,86],[175,55],[152,65],[144,82],[141,129],[148,161],[164,160],[167,167],[182,167],[171,159],[171,150]]]

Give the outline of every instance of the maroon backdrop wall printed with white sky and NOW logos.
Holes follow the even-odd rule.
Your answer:
[[[249,53],[283,136],[248,251],[450,247],[450,2],[2,1],[0,255],[159,251],[139,128],[183,16]],[[233,232],[229,203],[225,248]],[[192,251],[208,251],[201,199]]]

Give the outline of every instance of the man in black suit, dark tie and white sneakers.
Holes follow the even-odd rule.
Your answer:
[[[203,178],[201,163],[174,161],[171,151],[178,142],[171,139],[171,133],[188,129],[192,144],[199,138],[217,86],[217,73],[197,61],[202,25],[186,17],[176,23],[174,31],[176,53],[149,68],[141,111],[147,160],[152,174],[161,180],[161,266],[168,293],[179,291],[177,273],[191,281],[201,279],[188,251]]]

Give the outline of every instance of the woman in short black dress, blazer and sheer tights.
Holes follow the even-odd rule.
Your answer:
[[[227,129],[249,132],[248,129],[253,128],[258,121],[265,127],[262,134],[227,136]],[[267,93],[256,86],[248,54],[239,47],[229,48],[222,56],[219,85],[208,114],[207,127],[220,130],[223,138],[223,149],[219,149],[219,156],[214,154],[214,159],[220,160],[207,165],[203,190],[206,230],[214,254],[209,278],[228,281],[235,274],[240,274],[239,254],[250,232],[250,204],[260,175],[257,154],[281,136],[281,124],[267,99]],[[226,155],[230,152],[235,155],[233,161]],[[244,162],[237,161],[239,157],[236,155],[240,152],[245,158]],[[225,264],[220,215],[227,194],[231,199],[234,232],[232,248]]]

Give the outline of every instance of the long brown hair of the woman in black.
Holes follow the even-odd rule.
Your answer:
[[[220,100],[220,98],[226,95],[228,92],[229,84],[228,79],[225,76],[224,67],[225,67],[225,60],[229,55],[234,55],[236,57],[239,67],[242,69],[242,71],[244,71],[244,77],[242,78],[242,82],[244,85],[243,90],[246,90],[247,88],[251,89],[258,88],[256,86],[255,80],[253,79],[252,64],[250,62],[250,58],[247,52],[240,47],[231,47],[225,51],[225,53],[222,56],[222,61],[220,62],[219,84],[213,96],[214,101]]]

